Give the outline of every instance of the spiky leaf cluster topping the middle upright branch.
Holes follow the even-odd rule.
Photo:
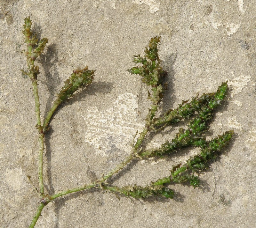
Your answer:
[[[160,66],[161,60],[158,56],[157,43],[160,42],[160,37],[154,37],[149,40],[149,48],[145,47],[145,57],[140,55],[134,55],[133,62],[135,64],[141,63],[140,67],[132,67],[128,69],[131,74],[142,76],[142,81],[146,85],[157,87],[162,83],[164,76],[167,74],[166,71]]]

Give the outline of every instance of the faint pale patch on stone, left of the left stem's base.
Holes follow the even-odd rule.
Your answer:
[[[4,172],[5,181],[14,189],[20,190],[23,180],[22,180],[22,169],[6,169]]]

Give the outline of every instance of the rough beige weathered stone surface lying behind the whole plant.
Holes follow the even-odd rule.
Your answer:
[[[146,86],[126,69],[131,56],[161,35],[159,53],[169,72],[166,108],[228,80],[230,99],[211,125],[213,136],[235,129],[227,152],[200,175],[195,190],[174,186],[174,200],[130,200],[97,190],[70,194],[43,210],[37,227],[254,227],[256,165],[256,14],[255,1],[0,1],[0,224],[27,227],[38,195],[37,131],[34,98],[26,69],[21,25],[49,43],[37,62],[42,115],[76,67],[89,66],[95,81],[60,109],[46,137],[44,180],[49,193],[100,177],[129,152],[144,125],[149,101]],[[95,130],[98,129],[98,131]],[[174,135],[174,131],[171,133]],[[148,142],[154,146],[171,136]],[[100,143],[102,142],[102,143]],[[175,154],[173,161],[196,150]],[[132,163],[119,185],[166,176],[173,161]],[[120,177],[120,175],[118,175]]]

